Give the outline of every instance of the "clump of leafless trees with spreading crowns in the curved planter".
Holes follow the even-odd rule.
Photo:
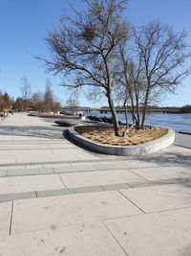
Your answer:
[[[117,136],[118,97],[124,107],[131,105],[133,123],[143,128],[147,106],[174,93],[189,74],[186,35],[160,22],[130,25],[122,14],[126,0],[84,2],[84,12],[62,17],[60,27],[47,35],[51,58],[36,58],[48,72],[62,75],[63,86],[88,86],[91,97],[106,96]]]

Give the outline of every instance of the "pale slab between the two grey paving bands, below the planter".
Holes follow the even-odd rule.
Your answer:
[[[126,170],[96,171],[88,173],[60,174],[67,188],[97,186],[117,183],[144,182],[143,178]]]

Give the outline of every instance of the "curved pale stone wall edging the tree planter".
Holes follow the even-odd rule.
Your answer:
[[[96,152],[116,155],[140,156],[161,151],[175,141],[175,131],[168,129],[168,133],[159,139],[135,146],[112,146],[98,143],[81,136],[74,128],[69,128],[69,136],[80,145]]]

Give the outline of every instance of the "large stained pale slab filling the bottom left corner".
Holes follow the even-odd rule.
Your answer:
[[[55,229],[52,226],[52,229]],[[40,230],[0,238],[2,255],[8,256],[125,256],[116,239],[103,223],[86,223],[59,230]]]

